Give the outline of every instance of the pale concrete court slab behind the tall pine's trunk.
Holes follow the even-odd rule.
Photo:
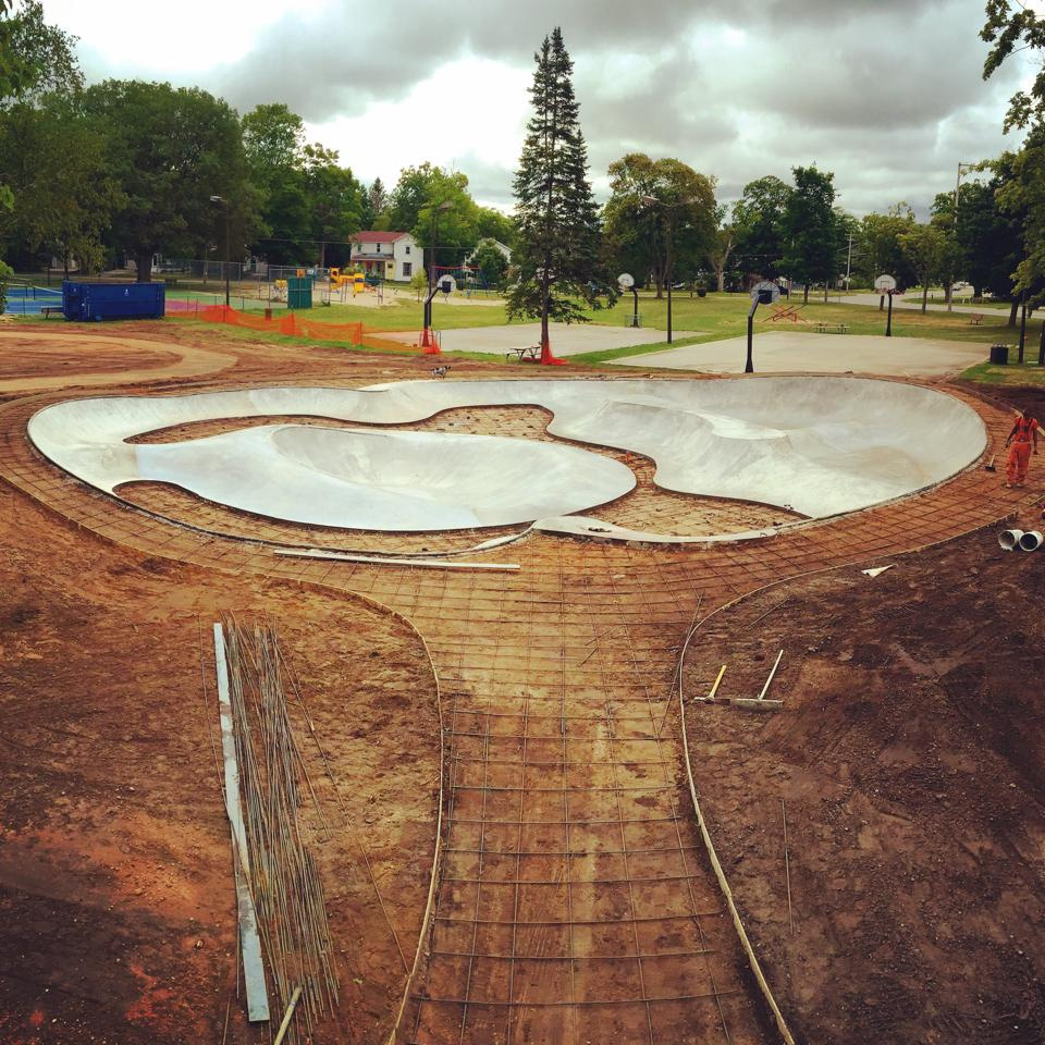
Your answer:
[[[437,324],[438,325],[438,324]],[[694,331],[676,330],[672,336],[694,336]],[[373,333],[370,337],[381,337]],[[397,335],[389,334],[389,337]],[[402,336],[402,335],[398,335]],[[552,323],[549,339],[555,356],[578,356],[585,352],[605,352],[608,348],[629,348],[631,345],[653,345],[663,341],[667,332],[653,328],[601,327],[598,323]],[[508,323],[503,327],[472,327],[468,330],[444,330],[440,333],[443,352],[480,352],[504,356],[514,348],[529,348],[541,343],[540,323]]]

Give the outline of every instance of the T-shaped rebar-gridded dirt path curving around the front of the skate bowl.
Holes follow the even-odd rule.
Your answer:
[[[974,402],[974,401],[973,401]],[[273,558],[121,507],[41,460],[0,407],[0,474],[144,555],[356,592],[408,616],[443,685],[441,881],[401,1042],[772,1041],[681,789],[667,703],[698,600],[956,536],[1019,503],[969,471],[782,534],[644,550],[540,537],[518,575]],[[995,442],[1006,415],[979,406]],[[496,555],[496,552],[492,553]]]

